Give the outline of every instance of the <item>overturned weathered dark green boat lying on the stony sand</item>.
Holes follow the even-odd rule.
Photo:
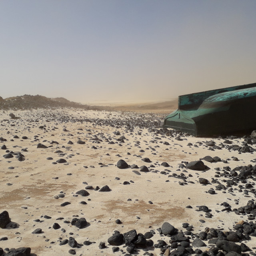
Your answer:
[[[239,89],[241,88],[242,89]],[[230,134],[244,130],[256,129],[256,83],[245,86],[234,86],[216,90],[217,93],[199,102],[198,94],[194,94],[195,101],[185,105],[166,116],[164,127],[181,130],[193,136],[212,136]],[[223,90],[226,90],[223,92]],[[186,95],[185,95],[186,96]],[[183,97],[183,96],[180,96]],[[185,97],[188,100],[188,97]],[[192,96],[190,94],[190,100]],[[183,101],[184,103],[185,101]],[[180,105],[180,100],[179,100]],[[184,109],[185,106],[185,109]]]

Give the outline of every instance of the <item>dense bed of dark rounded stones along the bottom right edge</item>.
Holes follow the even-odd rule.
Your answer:
[[[165,240],[157,240],[157,243],[154,243],[152,239],[155,232],[150,230],[145,234],[137,233],[137,231],[130,230],[124,234],[121,234],[119,231],[114,231],[112,236],[108,238],[108,244],[114,246],[116,250],[117,246],[124,244],[126,251],[129,254],[138,253],[140,250],[148,252],[152,247],[159,248],[161,253],[166,255],[202,255],[202,256],[224,256],[230,253],[230,256],[234,255],[245,255],[245,252],[252,252],[246,244],[246,240],[250,239],[250,235],[254,236],[252,233],[256,228],[256,224],[253,222],[241,222],[241,224],[236,224],[234,226],[234,231],[222,232],[220,229],[215,228],[205,228],[205,231],[200,232],[199,234],[193,233],[193,227],[188,223],[183,223],[182,227],[186,230],[178,230],[172,224],[164,222],[161,228],[158,228],[158,232],[161,236],[168,237],[169,244]],[[248,228],[250,227],[250,228]],[[246,231],[244,231],[244,229]],[[188,231],[191,230],[191,231]],[[208,251],[203,252],[199,248],[206,248],[206,243],[210,245]],[[240,242],[240,244],[237,244]],[[152,249],[151,249],[152,250]],[[232,254],[233,253],[233,254]],[[143,255],[147,255],[144,253]],[[252,255],[254,255],[252,253]]]

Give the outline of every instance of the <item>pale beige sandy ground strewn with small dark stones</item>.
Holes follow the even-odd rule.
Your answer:
[[[12,222],[18,224],[18,228],[15,229],[10,228],[10,224],[5,229],[0,228],[0,238],[8,238],[0,241],[1,248],[24,246],[31,247],[31,252],[38,256],[68,256],[68,250],[72,248],[68,244],[59,246],[59,242],[72,236],[80,244],[86,240],[96,242],[89,246],[74,248],[77,255],[122,255],[121,251],[112,252],[112,246],[107,242],[114,230],[124,233],[136,229],[137,233],[143,234],[154,230],[156,234],[151,239],[156,244],[158,239],[163,239],[167,243],[170,240],[166,236],[160,236],[156,230],[164,222],[169,222],[178,230],[182,229],[182,223],[188,222],[194,226],[193,233],[196,234],[204,231],[206,227],[229,231],[235,222],[247,220],[247,216],[221,212],[224,206],[220,204],[228,202],[232,209],[245,206],[248,200],[253,198],[253,194],[244,196],[237,190],[232,193],[221,190],[211,195],[206,192],[217,184],[202,185],[198,182],[200,177],[211,181],[216,174],[216,167],[223,170],[224,166],[233,169],[236,166],[254,165],[252,160],[255,154],[238,154],[237,151],[226,148],[210,151],[204,144],[206,141],[214,140],[218,145],[223,143],[224,139],[186,136],[178,141],[170,136],[155,134],[147,128],[134,127],[133,130],[128,130],[118,122],[116,126],[109,126],[85,121],[90,118],[129,120],[138,115],[132,112],[31,110],[14,112],[16,116],[21,117],[17,120],[10,120],[8,114],[9,112],[0,112],[0,137],[7,140],[0,142],[0,146],[5,144],[7,149],[13,152],[22,152],[21,149],[27,148],[27,152],[22,152],[25,160],[20,162],[15,157],[3,158],[2,156],[7,153],[0,149],[0,212],[7,210]],[[83,122],[61,122],[63,116],[81,118]],[[150,114],[146,114],[144,118],[150,119]],[[40,129],[39,126],[44,126],[44,129]],[[63,131],[64,128],[67,131]],[[78,130],[80,128],[82,130]],[[119,131],[120,135],[115,135],[116,131]],[[15,135],[19,138],[13,138]],[[27,136],[28,139],[22,139],[22,136]],[[117,140],[120,136],[125,136],[124,142],[120,143]],[[95,138],[100,140],[92,140]],[[69,140],[74,144],[67,144]],[[85,144],[77,144],[78,140],[84,141]],[[114,144],[109,144],[110,141],[114,141]],[[241,145],[243,140],[232,141]],[[169,145],[163,142],[168,142]],[[192,146],[187,146],[188,142],[192,143]],[[48,148],[37,148],[38,143]],[[57,150],[63,153],[56,153]],[[128,152],[130,154],[127,154]],[[210,168],[206,172],[180,168],[182,161],[199,160],[204,156],[219,156],[222,160],[227,160],[227,163],[204,162]],[[52,157],[53,160],[46,160],[48,157]],[[151,163],[143,162],[142,158],[145,157],[149,158]],[[239,161],[233,161],[232,157],[237,157]],[[52,164],[60,158],[67,162]],[[141,175],[137,175],[132,170],[140,169],[119,169],[116,163],[120,159],[129,165],[145,165],[150,172],[140,172]],[[167,162],[170,167],[161,166],[162,162]],[[155,167],[150,168],[150,164]],[[161,171],[166,173],[160,174]],[[186,177],[191,174],[187,181],[193,183],[181,186],[179,182],[182,180],[173,176],[168,177],[174,173],[183,173]],[[221,181],[223,178],[220,177],[218,180]],[[124,185],[125,181],[130,184]],[[108,185],[111,191],[99,192],[88,189],[89,196],[76,196],[78,190],[89,185],[93,188]],[[64,194],[65,197],[54,198],[59,194]],[[127,201],[128,199],[131,200]],[[80,204],[81,201],[87,204]],[[62,207],[60,204],[63,202],[71,204]],[[192,208],[186,208],[188,205]],[[213,217],[205,218],[204,212],[196,211],[200,205],[212,209]],[[46,219],[45,215],[51,218]],[[63,219],[56,220],[60,217]],[[86,228],[78,229],[70,223],[64,223],[64,220],[71,221],[75,217],[86,218]],[[36,219],[42,222],[35,222]],[[120,219],[122,224],[116,224],[116,219]],[[201,223],[199,220],[205,222]],[[54,230],[54,222],[60,224],[61,228]],[[32,234],[36,228],[41,228],[42,233]],[[62,228],[66,232],[63,232]],[[100,242],[105,242],[107,248],[99,249]],[[252,247],[256,239],[243,242]],[[126,252],[123,245],[119,247]],[[210,248],[210,245],[207,244],[207,248]],[[149,252],[160,255],[160,249],[154,247],[150,248]],[[136,252],[137,255],[143,253],[143,250]]]

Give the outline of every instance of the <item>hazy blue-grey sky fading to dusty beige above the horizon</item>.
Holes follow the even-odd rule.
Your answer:
[[[1,0],[0,96],[139,101],[256,82],[255,0]]]

